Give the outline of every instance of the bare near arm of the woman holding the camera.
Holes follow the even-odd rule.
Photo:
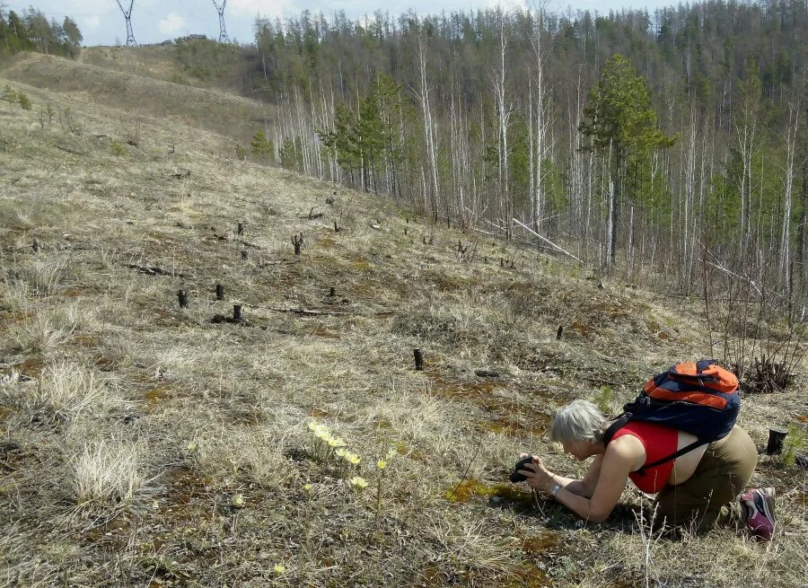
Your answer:
[[[628,435],[626,436],[628,437]],[[609,443],[606,453],[599,456],[602,458],[599,466],[593,463],[590,470],[586,472],[584,480],[591,478],[590,473],[597,470],[596,474],[593,473],[593,477],[596,476],[596,481],[591,497],[580,496],[573,491],[577,489],[588,490],[589,482],[584,484],[584,480],[581,480],[580,486],[575,485],[572,489],[568,489],[560,483],[561,480],[567,478],[555,476],[546,470],[541,463],[532,466],[534,471],[524,471],[523,473],[531,487],[548,493],[552,491],[556,484],[561,485],[561,489],[556,494],[558,502],[586,521],[603,522],[617,505],[620,495],[623,493],[623,488],[626,487],[628,474],[637,461],[636,451],[633,451],[635,449],[633,444],[630,442],[619,443],[621,440],[622,437],[613,443]],[[530,467],[526,466],[526,468]]]

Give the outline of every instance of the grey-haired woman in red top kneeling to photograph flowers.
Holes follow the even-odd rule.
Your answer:
[[[658,493],[656,524],[703,532],[716,525],[742,522],[752,537],[771,539],[774,488],[751,489],[738,496],[758,461],[751,437],[740,426],[733,426],[718,441],[645,468],[693,443],[696,437],[656,423],[628,421],[604,444],[603,434],[613,422],[587,400],[560,408],[550,438],[562,443],[564,452],[578,461],[594,457],[589,470],[581,480],[564,478],[531,456],[532,463],[520,473],[531,487],[554,496],[586,521],[605,521],[630,478],[643,492]]]

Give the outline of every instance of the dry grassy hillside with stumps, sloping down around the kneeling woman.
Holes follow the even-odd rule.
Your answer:
[[[212,132],[230,123],[208,101],[249,101],[144,80],[41,56],[0,72],[34,104],[0,103],[0,586],[804,584],[808,479],[779,459],[754,479],[781,496],[770,545],[660,540],[633,487],[584,525],[506,481],[525,450],[580,472],[553,410],[616,410],[707,355],[698,305],[380,198],[326,204]],[[212,321],[236,303],[245,323]],[[757,443],[805,419],[800,386],[744,399]],[[322,459],[312,419],[360,463]]]

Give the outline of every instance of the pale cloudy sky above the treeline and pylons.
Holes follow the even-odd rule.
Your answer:
[[[120,0],[128,9],[130,0]],[[223,0],[216,0],[221,5]],[[219,17],[214,0],[134,0],[132,28],[140,44],[174,39],[189,33],[201,33],[217,39]],[[361,19],[382,9],[391,14],[415,10],[419,14],[441,11],[494,7],[497,0],[227,0],[224,19],[230,38],[252,42],[252,25],[258,15],[274,18],[294,16],[303,10],[322,12],[328,17],[344,10],[351,18]],[[531,5],[531,0],[500,0],[506,7]],[[608,13],[620,8],[654,8],[677,4],[674,0],[549,0],[548,8],[564,12],[568,7]],[[127,30],[116,0],[0,0],[4,10],[23,12],[29,5],[61,22],[70,16],[78,22],[85,45],[115,45],[125,42]]]

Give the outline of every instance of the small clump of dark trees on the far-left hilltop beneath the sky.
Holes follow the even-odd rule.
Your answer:
[[[69,16],[61,23],[48,21],[34,8],[22,14],[6,13],[0,3],[0,62],[20,51],[75,57],[82,40],[82,32]]]

